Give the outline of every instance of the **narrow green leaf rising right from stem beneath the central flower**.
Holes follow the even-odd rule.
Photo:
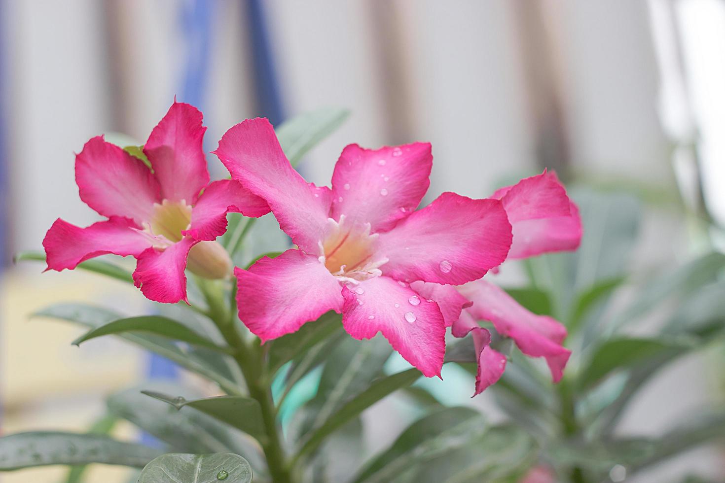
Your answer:
[[[373,404],[392,392],[412,385],[419,377],[421,377],[421,373],[418,369],[408,369],[376,380],[362,394],[345,403],[339,411],[327,418],[321,427],[310,433],[310,436],[303,442],[297,457],[303,457],[311,453],[318,448],[328,434],[331,434],[347,421],[355,418],[365,409],[373,406]]]

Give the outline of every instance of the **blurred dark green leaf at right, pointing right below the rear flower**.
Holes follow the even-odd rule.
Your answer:
[[[613,371],[642,364],[647,359],[655,358],[674,348],[692,347],[695,347],[694,342],[684,337],[678,339],[618,338],[608,340],[595,350],[595,353],[589,359],[589,364],[581,371],[579,385],[583,388],[592,387]]]

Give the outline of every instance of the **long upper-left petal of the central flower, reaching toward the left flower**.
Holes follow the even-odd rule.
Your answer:
[[[291,167],[267,119],[247,119],[231,127],[214,154],[233,179],[269,203],[299,248],[321,255],[318,245],[330,211],[330,191],[307,184]]]

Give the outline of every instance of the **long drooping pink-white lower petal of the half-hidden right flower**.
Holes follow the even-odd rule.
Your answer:
[[[563,324],[549,316],[531,313],[486,280],[471,282],[459,290],[473,302],[468,313],[476,319],[491,321],[500,335],[511,337],[527,356],[546,358],[554,382],[561,379],[571,356],[571,350],[562,345],[566,338]]]

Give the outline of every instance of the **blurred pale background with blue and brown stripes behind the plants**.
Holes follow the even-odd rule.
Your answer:
[[[204,112],[207,152],[242,119],[278,125],[323,106],[350,109],[300,165],[318,185],[348,143],[426,140],[435,161],[428,200],[448,190],[481,198],[548,167],[573,185],[639,198],[632,271],[721,246],[721,0],[1,0],[0,92],[4,434],[86,429],[107,393],[145,377],[184,377],[123,343],[80,350],[70,346],[80,329],[28,321],[66,299],[140,312],[146,301],[133,287],[12,264],[13,253],[42,248],[57,217],[82,226],[98,218],[74,181],[83,143],[100,133],[144,143],[174,96]],[[209,159],[220,177],[221,164]],[[656,435],[721,397],[723,360],[700,354],[668,368],[622,430]],[[725,481],[724,461],[723,450],[704,448],[631,481]],[[93,471],[90,481],[125,475]],[[0,480],[52,482],[63,472]]]

